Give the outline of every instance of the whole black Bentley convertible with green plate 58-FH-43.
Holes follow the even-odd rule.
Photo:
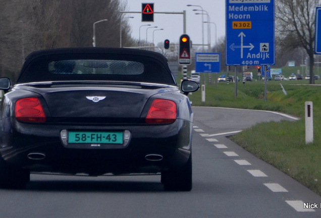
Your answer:
[[[25,188],[30,172],[156,174],[165,190],[192,188],[193,113],[164,56],[126,48],[31,53],[4,90],[0,187]]]

